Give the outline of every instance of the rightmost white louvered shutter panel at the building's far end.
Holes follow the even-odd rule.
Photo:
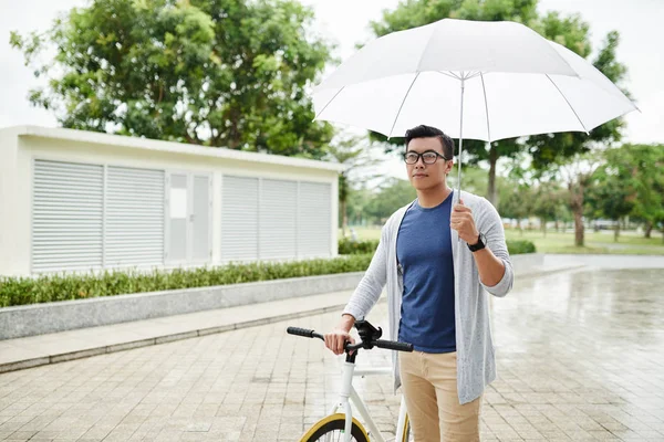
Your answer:
[[[298,252],[301,257],[330,256],[332,187],[300,182],[298,198]]]

